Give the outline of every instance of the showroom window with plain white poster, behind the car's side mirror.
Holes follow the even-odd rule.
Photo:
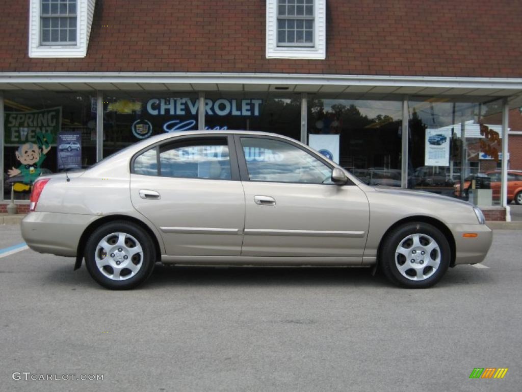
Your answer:
[[[401,186],[402,101],[315,95],[308,144],[369,185]]]

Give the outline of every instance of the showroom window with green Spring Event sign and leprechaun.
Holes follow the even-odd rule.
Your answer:
[[[4,200],[29,200],[40,176],[96,163],[96,97],[65,91],[4,94]]]

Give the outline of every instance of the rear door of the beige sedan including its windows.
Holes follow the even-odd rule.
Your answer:
[[[158,228],[167,255],[240,255],[245,200],[233,143],[184,136],[134,157],[132,203]]]

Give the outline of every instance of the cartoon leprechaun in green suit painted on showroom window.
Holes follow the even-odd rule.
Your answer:
[[[17,168],[7,170],[9,177],[22,176],[22,182],[15,182],[13,189],[16,192],[28,191],[35,179],[40,176],[40,166],[45,159],[45,154],[51,149],[52,134],[37,134],[37,143],[26,143],[18,147],[16,158],[21,165]]]

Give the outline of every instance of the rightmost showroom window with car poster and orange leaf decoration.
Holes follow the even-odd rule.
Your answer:
[[[408,106],[408,187],[499,204],[502,101],[428,97]]]

